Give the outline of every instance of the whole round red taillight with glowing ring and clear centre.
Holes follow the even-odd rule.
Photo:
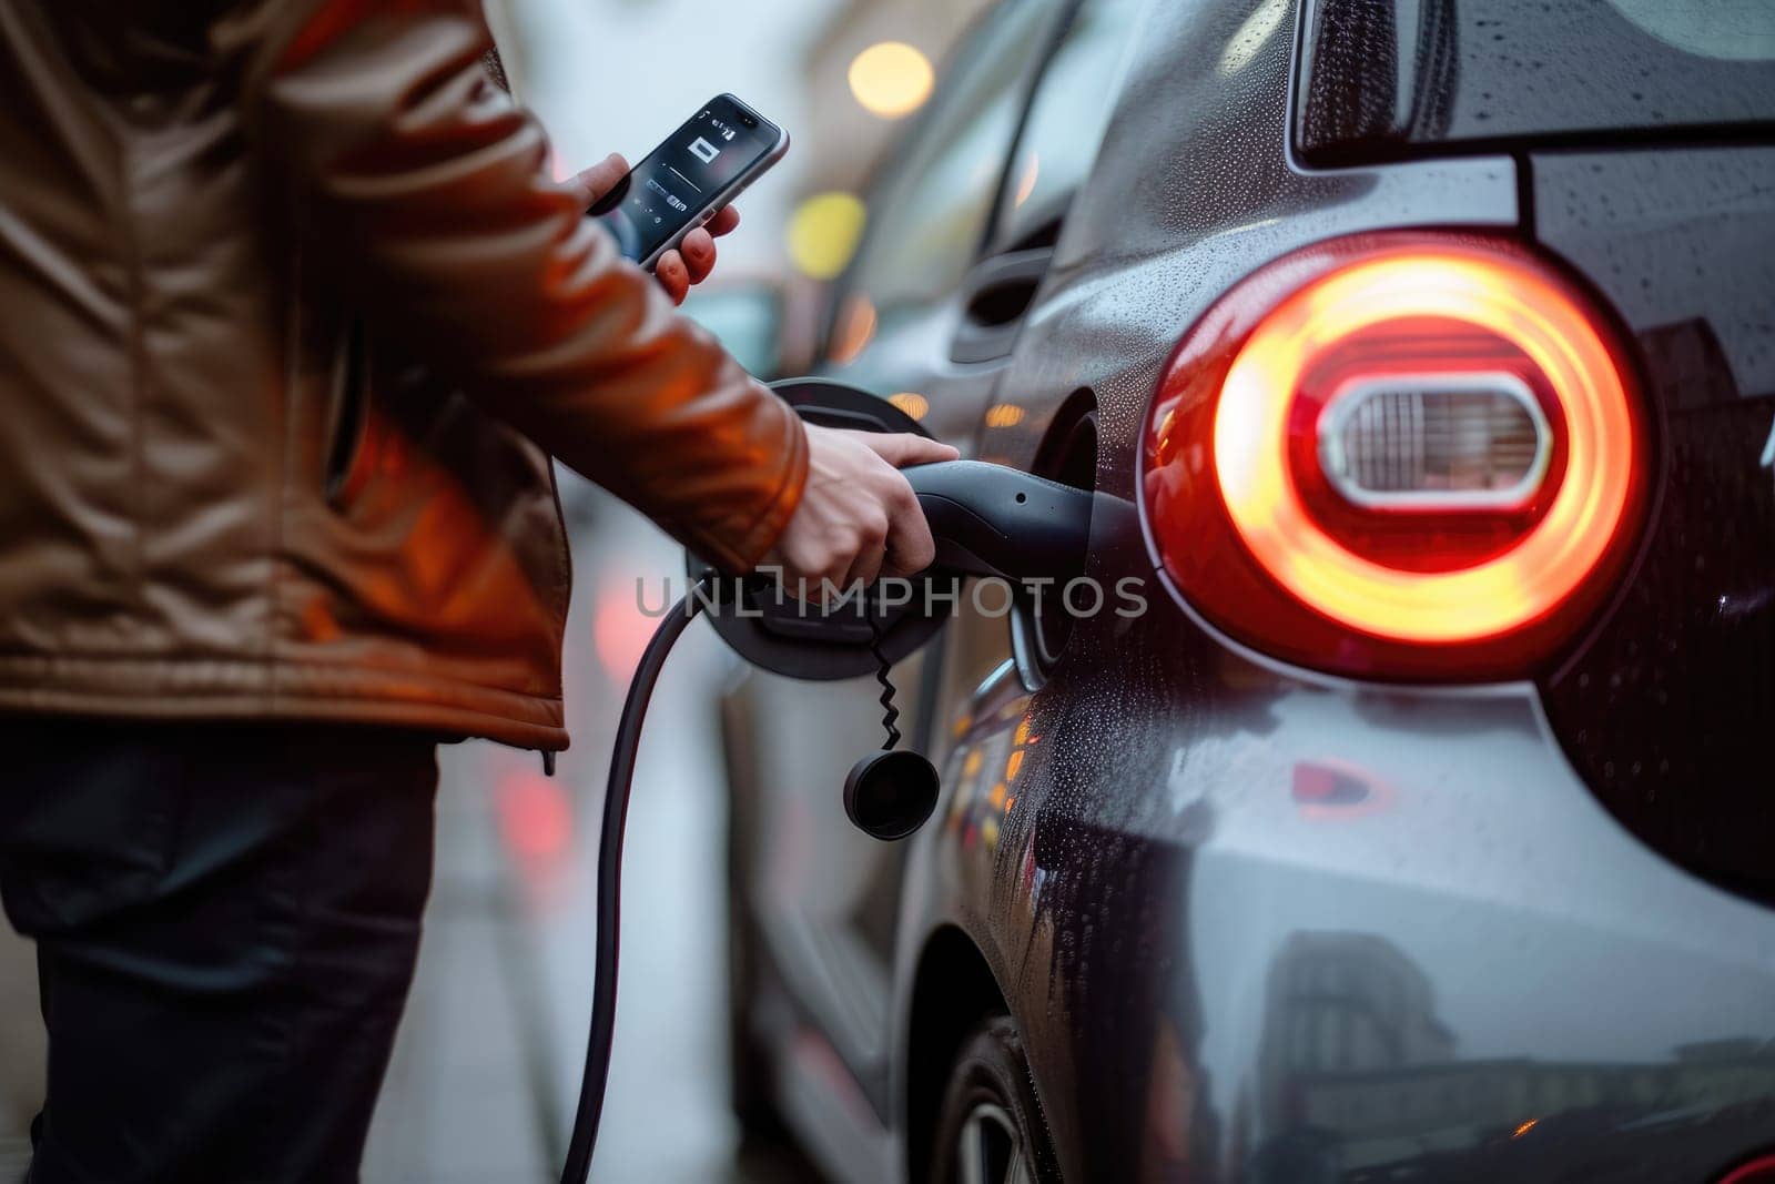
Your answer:
[[[1521,675],[1631,538],[1645,430],[1578,288],[1525,250],[1363,236],[1186,335],[1154,399],[1150,536],[1260,650],[1383,678]]]

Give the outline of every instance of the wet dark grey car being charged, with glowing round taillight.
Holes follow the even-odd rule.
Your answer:
[[[834,1177],[1775,1179],[1775,18],[1006,0],[822,373],[1147,611],[742,676],[737,1104]],[[1761,1163],[1763,1166],[1752,1166]],[[1759,1175],[1761,1172],[1761,1175]]]

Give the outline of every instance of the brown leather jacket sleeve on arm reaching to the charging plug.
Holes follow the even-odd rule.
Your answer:
[[[740,572],[801,499],[801,421],[548,178],[474,0],[254,0],[243,119],[341,295],[479,405]],[[231,51],[233,46],[233,51]]]

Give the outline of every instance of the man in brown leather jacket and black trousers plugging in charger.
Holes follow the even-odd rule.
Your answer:
[[[953,451],[804,430],[580,217],[614,165],[550,183],[486,48],[470,0],[0,5],[37,1184],[355,1177],[435,744],[566,746],[548,454],[733,572],[932,557],[895,465]]]

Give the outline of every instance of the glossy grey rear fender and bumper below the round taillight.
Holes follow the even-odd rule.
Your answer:
[[[1530,701],[1074,644],[1115,660],[978,699],[909,875],[999,973],[1067,1179],[1690,1179],[1771,1129],[1768,911],[1610,824]]]

